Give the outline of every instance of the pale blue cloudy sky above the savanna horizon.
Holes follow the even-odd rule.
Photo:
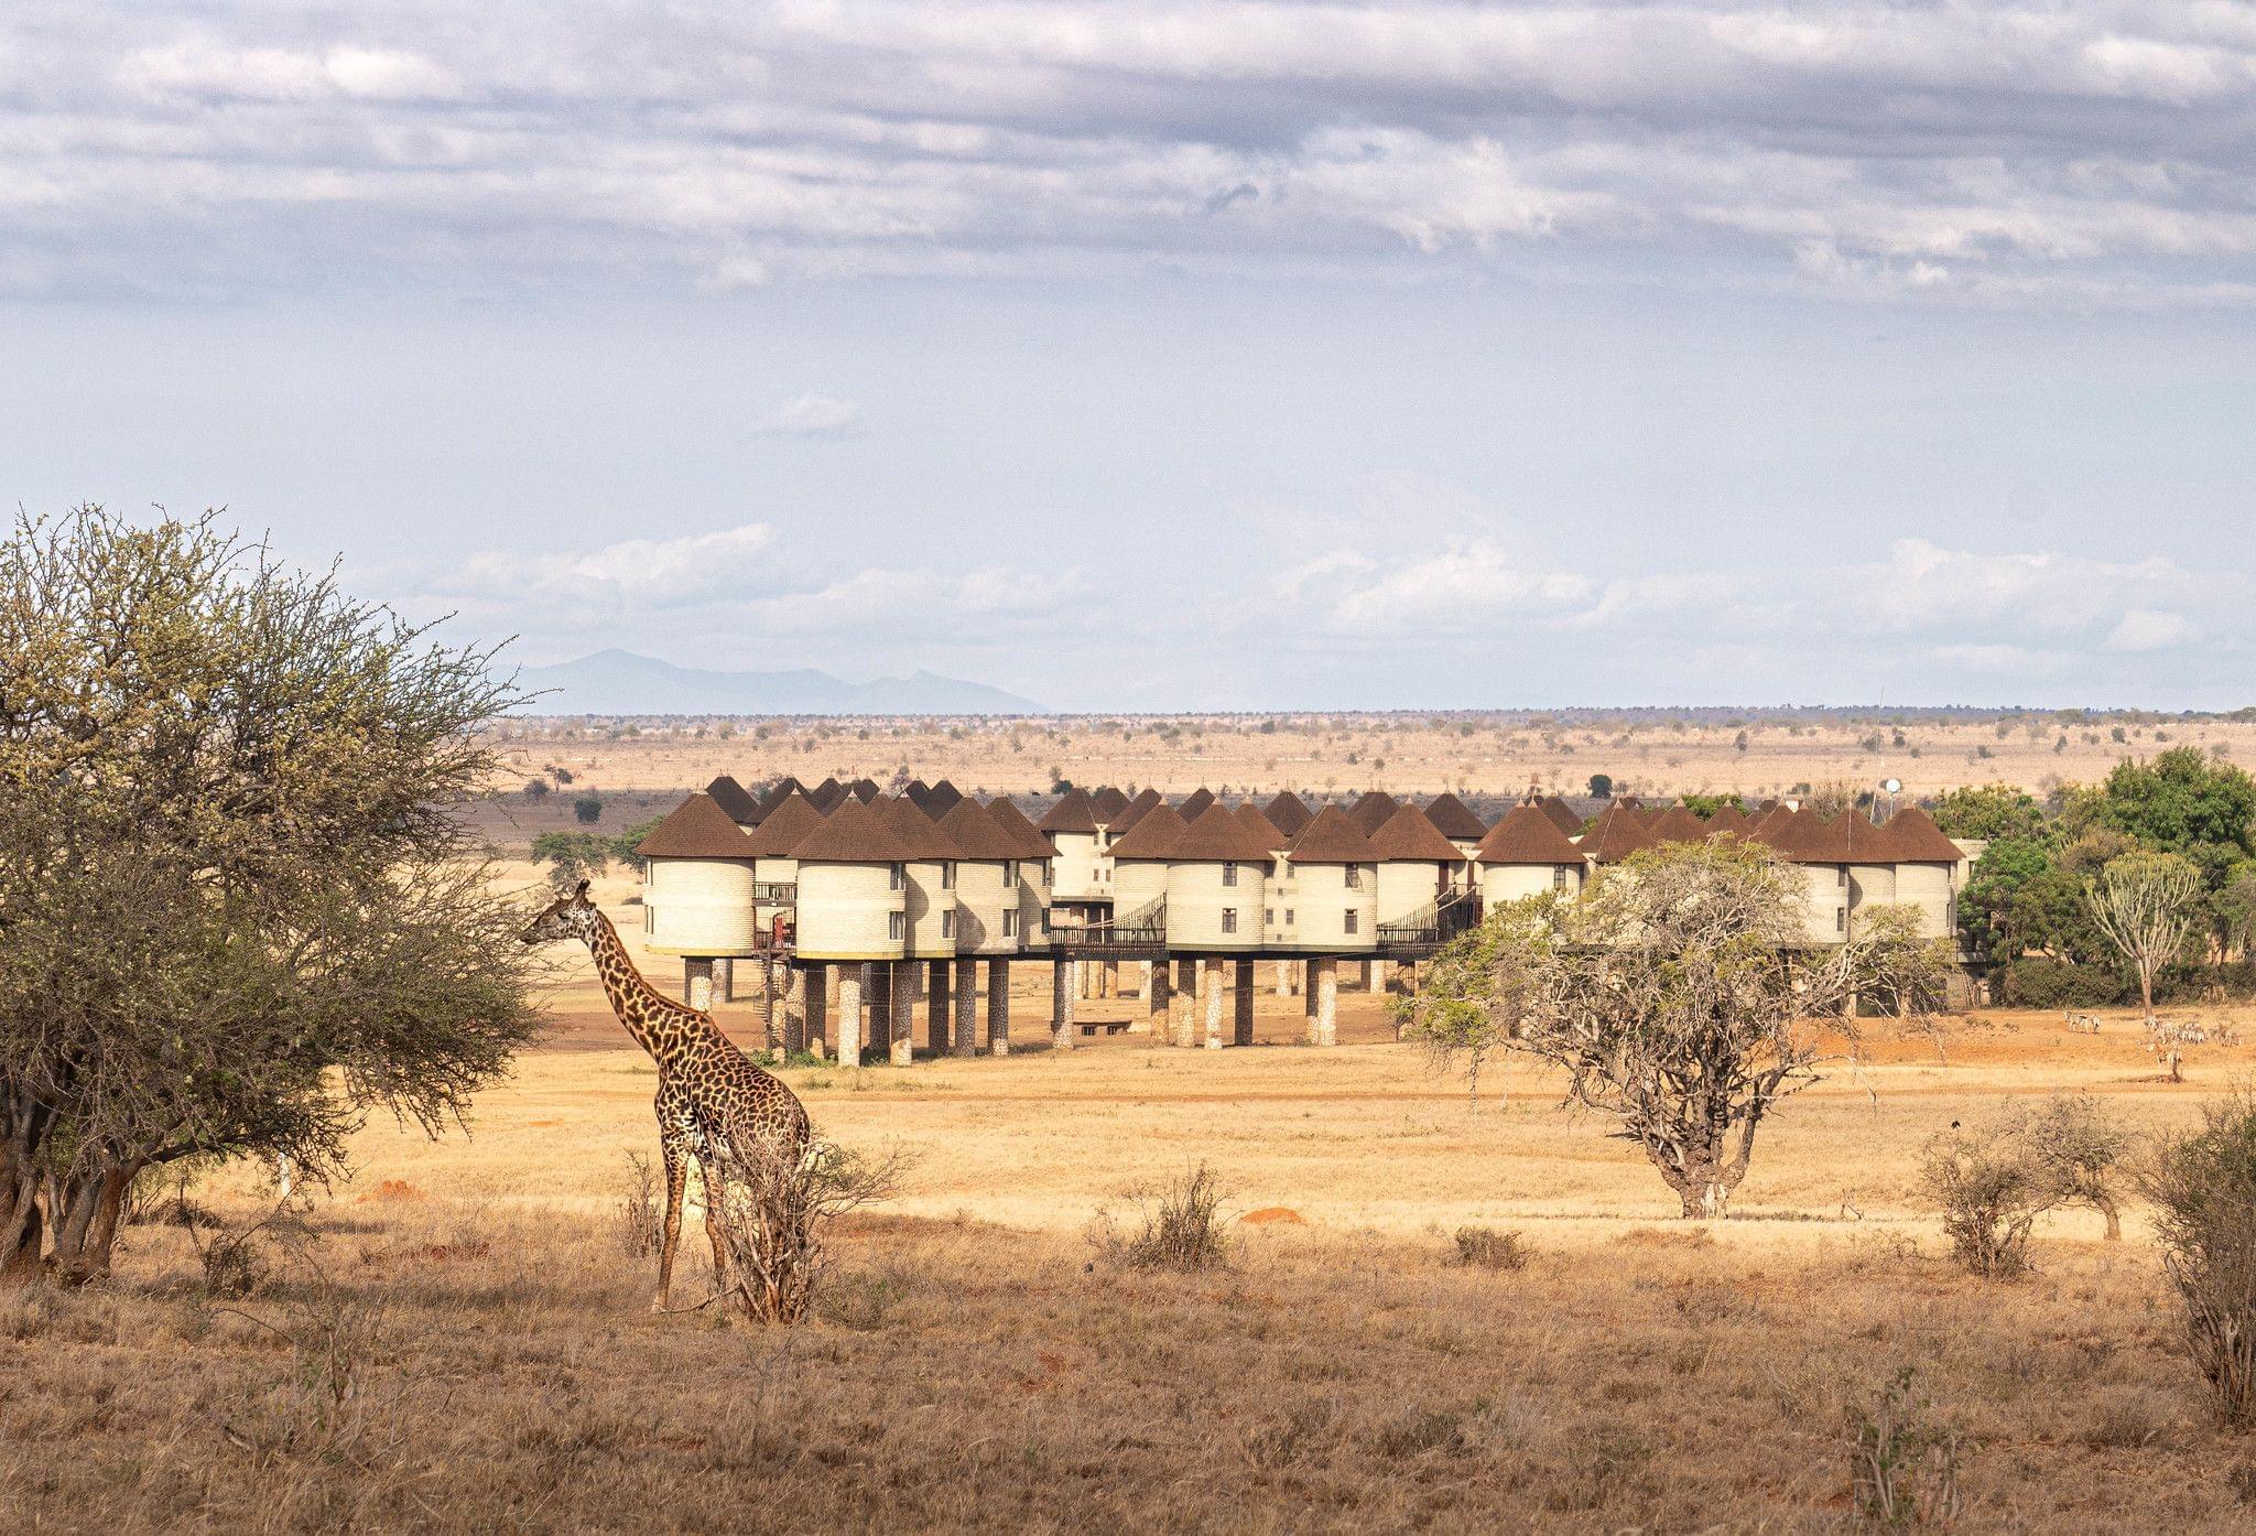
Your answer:
[[[523,663],[2256,701],[2256,7],[0,9],[0,467]]]

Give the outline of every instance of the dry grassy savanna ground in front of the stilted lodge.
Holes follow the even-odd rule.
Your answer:
[[[1877,1038],[1694,1225],[1554,1080],[1491,1074],[1469,1112],[1378,997],[1333,1051],[1263,997],[1254,1049],[1067,1053],[1022,970],[1008,1060],[785,1074],[823,1135],[914,1164],[848,1218],[821,1322],[763,1331],[647,1313],[620,1207],[654,1071],[559,956],[550,1049],[442,1141],[370,1125],[248,1297],[203,1297],[192,1236],[142,1225],[113,1286],[0,1301],[11,1525],[1827,1531],[1854,1527],[1859,1412],[1911,1367],[1963,1435],[1956,1529],[2247,1529],[2256,1448],[2209,1425],[2143,1222],[2048,1218],[2030,1279],[1974,1281],[1915,1164],[2010,1094],[2182,1123],[2256,1049],[2170,1087],[2127,1019],[1967,1019],[1949,1065]],[[747,1004],[722,1019],[749,1038]],[[1232,1263],[1108,1261],[1092,1220],[1198,1162]],[[241,1173],[199,1198],[255,1209]],[[1530,1263],[1455,1265],[1466,1225]],[[677,1306],[708,1286],[693,1222]]]

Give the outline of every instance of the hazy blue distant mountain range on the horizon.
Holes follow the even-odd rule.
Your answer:
[[[1040,715],[1033,699],[959,677],[911,672],[848,683],[828,672],[702,672],[600,650],[523,668],[535,715]]]

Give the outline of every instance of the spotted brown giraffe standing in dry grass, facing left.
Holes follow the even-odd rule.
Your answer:
[[[808,1150],[808,1110],[778,1078],[760,1071],[720,1033],[711,1013],[677,1004],[659,992],[636,970],[627,945],[611,920],[587,900],[587,882],[537,916],[521,938],[528,945],[557,938],[580,938],[596,956],[596,974],[611,997],[611,1013],[650,1051],[659,1065],[659,1153],[666,1157],[666,1241],[659,1245],[659,1290],[650,1310],[663,1313],[675,1279],[675,1241],[681,1236],[681,1195],[688,1186],[690,1157],[706,1182],[706,1238],[713,1243],[713,1272],[729,1274],[729,1252],[722,1245],[713,1202],[722,1198],[722,1177],[708,1148],[749,1153],[765,1146],[772,1155],[792,1159]]]

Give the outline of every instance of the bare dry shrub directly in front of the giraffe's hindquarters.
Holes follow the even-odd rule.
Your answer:
[[[900,1186],[909,1157],[880,1157],[812,1141],[792,1155],[767,1144],[722,1150],[720,1198],[706,1191],[706,1220],[720,1222],[729,1254],[726,1295],[754,1322],[808,1317],[830,1270],[830,1227],[848,1211],[884,1200]]]

